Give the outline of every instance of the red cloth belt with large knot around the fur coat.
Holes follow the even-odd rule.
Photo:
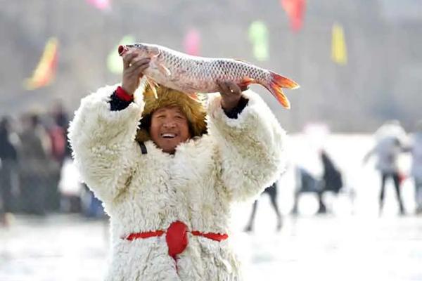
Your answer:
[[[145,239],[149,237],[158,237],[166,233],[165,240],[167,242],[167,246],[169,247],[169,255],[172,256],[173,259],[176,259],[177,254],[181,254],[186,247],[188,246],[188,233],[191,233],[195,236],[202,236],[206,237],[210,240],[215,241],[222,241],[229,238],[229,235],[226,234],[219,234],[219,233],[201,233],[200,231],[188,231],[188,227],[186,224],[182,223],[181,221],[174,221],[167,231],[165,230],[156,230],[156,231],[149,231],[146,233],[131,233],[127,235],[127,237],[123,237],[125,240],[136,240],[136,239]]]

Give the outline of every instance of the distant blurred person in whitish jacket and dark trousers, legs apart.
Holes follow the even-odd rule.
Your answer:
[[[380,215],[384,206],[385,183],[388,178],[394,181],[397,202],[399,204],[400,214],[404,214],[404,205],[400,194],[400,173],[398,167],[398,158],[404,150],[404,137],[406,133],[397,120],[385,122],[375,133],[376,145],[364,157],[364,163],[375,155],[377,157],[376,169],[381,173],[381,192],[379,197]]]

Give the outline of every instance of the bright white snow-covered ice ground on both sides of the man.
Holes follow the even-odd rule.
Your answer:
[[[315,215],[317,201],[305,194],[300,215],[290,216],[295,177],[293,166],[319,176],[319,143],[343,171],[346,189],[326,196],[329,214]],[[379,176],[373,162],[362,165],[371,148],[369,136],[334,135],[290,138],[289,169],[279,181],[278,201],[284,217],[276,233],[276,216],[267,195],[260,197],[255,232],[241,230],[250,204],[234,207],[231,240],[244,265],[245,280],[422,280],[422,216],[415,216],[413,183],[402,186],[406,216],[398,216],[392,184],[385,211],[378,216]],[[293,157],[294,155],[294,157]],[[401,159],[403,171],[409,157]],[[107,221],[77,215],[46,218],[15,216],[0,228],[1,281],[103,280],[108,254]]]

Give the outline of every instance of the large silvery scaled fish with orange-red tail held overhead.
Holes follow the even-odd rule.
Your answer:
[[[129,50],[136,50],[142,58],[151,58],[143,74],[152,89],[161,84],[193,98],[197,93],[218,92],[217,81],[234,81],[241,88],[250,84],[264,86],[283,107],[289,109],[290,102],[282,89],[300,87],[292,79],[244,60],[205,58],[146,43],[120,45],[117,49],[120,56]]]

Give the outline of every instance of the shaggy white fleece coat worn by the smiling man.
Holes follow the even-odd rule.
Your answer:
[[[143,99],[110,111],[115,86],[82,99],[69,138],[83,180],[110,216],[111,259],[106,280],[241,280],[230,247],[231,202],[248,200],[283,171],[285,133],[252,91],[237,119],[229,119],[219,95],[210,98],[208,134],[181,143],[174,155],[152,141],[143,155],[134,141]],[[227,233],[217,242],[188,233],[188,246],[174,259],[165,235],[124,240],[129,233],[167,230],[183,221],[188,230]]]

